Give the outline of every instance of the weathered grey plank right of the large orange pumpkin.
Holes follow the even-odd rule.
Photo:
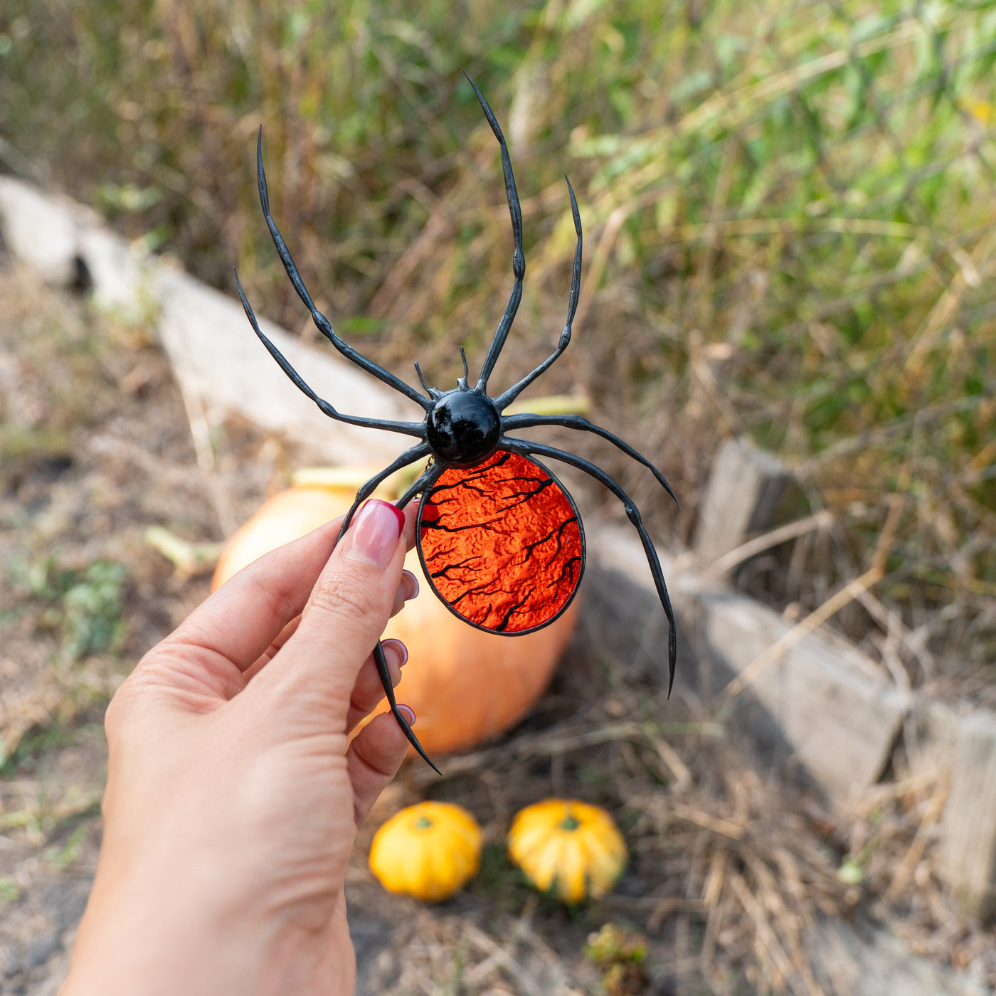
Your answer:
[[[639,541],[617,527],[589,533],[603,572],[593,596],[610,620],[625,621],[612,627],[611,645],[641,668],[662,668],[666,627]],[[790,625],[753,599],[675,572],[667,558],[661,563],[679,623],[697,657],[694,664],[687,656],[679,660],[678,681],[716,701],[728,682]],[[831,799],[846,803],[887,765],[903,704],[870,658],[846,640],[817,631],[756,674],[725,714],[770,764],[800,766]]]

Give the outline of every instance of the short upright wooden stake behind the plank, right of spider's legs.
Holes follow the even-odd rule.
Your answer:
[[[699,563],[711,564],[766,529],[790,479],[777,457],[747,440],[725,439],[712,462],[695,533]]]

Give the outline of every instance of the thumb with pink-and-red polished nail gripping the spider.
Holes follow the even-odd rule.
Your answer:
[[[299,704],[318,705],[326,730],[331,722],[332,731],[345,732],[357,674],[390,617],[404,526],[404,514],[388,502],[372,499],[360,509],[315,583],[297,631],[259,675],[268,696],[275,681]]]

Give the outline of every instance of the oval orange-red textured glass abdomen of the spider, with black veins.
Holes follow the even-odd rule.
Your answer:
[[[467,622],[526,632],[571,601],[584,568],[581,523],[539,464],[499,450],[480,466],[450,468],[420,511],[425,575]]]

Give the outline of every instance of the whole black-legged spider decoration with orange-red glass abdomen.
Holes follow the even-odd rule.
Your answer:
[[[270,214],[270,198],[263,171],[262,128],[256,142],[259,198],[280,261],[284,264],[294,290],[311,312],[319,331],[343,356],[414,401],[425,411],[424,419],[416,422],[390,421],[337,411],[305,383],[301,375],[263,335],[236,272],[235,283],[239,298],[253,331],[270,356],[293,383],[330,418],[351,425],[400,432],[418,440],[360,488],[353,507],[343,521],[340,536],[349,528],[357,509],[373,494],[381,481],[396,470],[427,457],[427,466],[397,500],[397,507],[404,508],[412,498],[421,496],[417,516],[417,547],[425,577],[430,588],[450,612],[465,622],[506,635],[532,632],[557,619],[578,591],[585,568],[585,534],[581,518],[567,490],[534,457],[546,456],[559,460],[601,481],[620,499],[629,521],[639,534],[654,587],[667,616],[669,695],[674,683],[676,654],[674,614],[660,562],[636,506],[619,484],[595,464],[565,450],[520,439],[509,433],[539,425],[562,425],[594,432],[649,468],[657,482],[677,503],[670,485],[649,460],[619,436],[580,415],[502,414],[526,387],[549,369],[571,342],[571,326],[581,292],[582,234],[578,201],[571,181],[566,176],[574,227],[578,235],[567,324],[561,333],[557,349],[536,370],[526,374],[497,397],[490,397],[487,392],[488,377],[505,345],[522,299],[522,280],[526,269],[522,252],[522,209],[501,127],[473,80],[466,73],[464,76],[473,87],[501,148],[505,193],[515,240],[512,256],[512,273],[515,279],[512,293],[473,387],[467,379],[469,370],[463,347],[460,347],[463,376],[457,379],[456,387],[451,390],[429,387],[418,364],[415,364],[415,373],[425,391],[423,394],[393,373],[378,367],[336,335],[329,320],[315,307],[287,243]],[[394,719],[412,747],[438,773],[439,769],[429,760],[397,708],[387,662],[379,642],[373,649],[373,658]]]

